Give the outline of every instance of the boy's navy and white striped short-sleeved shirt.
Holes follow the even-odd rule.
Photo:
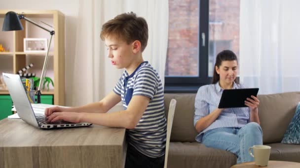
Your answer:
[[[124,110],[127,109],[132,96],[142,95],[150,98],[137,126],[126,130],[126,140],[149,157],[164,155],[167,121],[163,87],[158,73],[148,61],[142,62],[131,75],[125,70],[113,91],[121,96]]]

